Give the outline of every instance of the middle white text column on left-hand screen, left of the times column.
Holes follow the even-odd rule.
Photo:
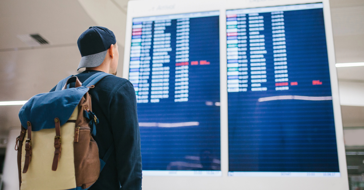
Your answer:
[[[154,21],[153,61],[150,102],[159,102],[159,99],[169,97],[169,66],[168,52],[171,48],[171,33],[165,33],[166,27],[171,26],[171,20]]]

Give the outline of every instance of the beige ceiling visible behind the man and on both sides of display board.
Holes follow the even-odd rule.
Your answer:
[[[122,66],[127,2],[1,0],[0,101],[27,100],[34,94],[47,92],[60,78],[75,74],[80,59],[76,41],[90,26],[102,25],[114,31]],[[364,1],[330,2],[336,61],[364,62]],[[29,33],[40,33],[50,44],[32,48],[16,37]],[[364,66],[337,68],[337,72],[339,80],[364,82]],[[348,107],[343,108],[348,117],[344,123],[352,120],[350,113],[361,109]],[[19,127],[19,109],[20,106],[0,107],[0,133]],[[361,118],[361,114],[356,118]]]

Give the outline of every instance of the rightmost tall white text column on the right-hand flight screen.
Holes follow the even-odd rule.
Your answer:
[[[272,12],[274,77],[276,90],[288,90],[286,38],[283,11]]]

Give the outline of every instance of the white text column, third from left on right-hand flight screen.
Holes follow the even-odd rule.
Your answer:
[[[252,91],[266,91],[262,83],[267,81],[264,54],[265,39],[260,32],[264,31],[264,17],[259,13],[249,14],[249,54],[250,54],[250,82]]]

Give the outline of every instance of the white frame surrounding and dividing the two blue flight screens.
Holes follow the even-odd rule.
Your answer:
[[[226,10],[274,7],[307,3],[323,3],[325,32],[331,79],[333,111],[336,128],[340,177],[244,177],[228,176],[228,115],[227,115],[227,60],[226,60]],[[222,189],[295,189],[295,190],[348,190],[348,173],[345,157],[343,125],[339,102],[339,88],[335,67],[335,49],[329,0],[131,0],[128,2],[126,37],[124,47],[123,77],[128,78],[132,19],[147,16],[175,15],[181,13],[219,11],[220,35],[220,121],[221,121],[221,173],[220,176],[160,176],[143,175],[145,190],[222,190]],[[164,171],[163,171],[164,172]]]

